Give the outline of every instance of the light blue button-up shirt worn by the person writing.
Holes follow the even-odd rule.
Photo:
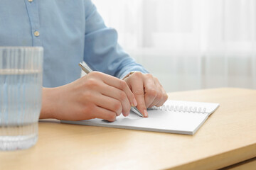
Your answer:
[[[31,0],[30,0],[31,1]],[[122,78],[146,73],[117,43],[90,0],[1,0],[0,46],[43,46],[43,86],[80,78],[78,63]]]

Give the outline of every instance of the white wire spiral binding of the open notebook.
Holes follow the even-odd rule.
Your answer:
[[[188,106],[174,106],[174,105],[163,105],[160,107],[153,106],[153,110],[159,110],[159,111],[174,111],[174,112],[188,112],[188,113],[206,113],[206,108],[201,107],[188,107]]]

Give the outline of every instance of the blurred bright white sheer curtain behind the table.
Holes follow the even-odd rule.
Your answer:
[[[255,0],[92,0],[166,91],[256,89]]]

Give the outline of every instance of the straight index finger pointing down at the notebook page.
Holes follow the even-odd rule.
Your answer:
[[[128,77],[126,81],[130,88],[132,89],[132,93],[136,98],[136,101],[138,103],[138,110],[144,115],[144,117],[148,117],[144,99],[144,84],[142,76],[142,73],[136,72],[132,74],[130,77]]]

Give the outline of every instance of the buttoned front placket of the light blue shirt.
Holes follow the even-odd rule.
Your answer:
[[[39,13],[37,0],[24,0],[28,17],[31,23],[31,35],[33,39],[33,46],[42,46],[39,24]]]

